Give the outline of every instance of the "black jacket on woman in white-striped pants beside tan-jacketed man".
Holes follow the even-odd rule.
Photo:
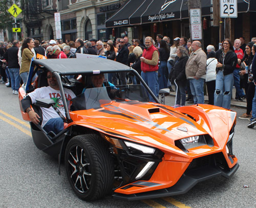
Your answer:
[[[175,58],[174,66],[172,71],[169,74],[169,80],[171,83],[174,83],[174,80],[176,79],[176,82],[186,82],[186,63],[187,63],[188,57],[181,57],[178,56]]]

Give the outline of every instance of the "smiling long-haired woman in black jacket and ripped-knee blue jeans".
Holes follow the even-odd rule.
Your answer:
[[[214,95],[214,105],[230,109],[231,93],[234,83],[233,70],[237,65],[238,58],[229,39],[225,39],[222,48],[216,53],[217,76]]]

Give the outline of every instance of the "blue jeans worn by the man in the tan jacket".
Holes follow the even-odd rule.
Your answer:
[[[204,79],[190,79],[190,90],[194,98],[194,104],[204,103]]]

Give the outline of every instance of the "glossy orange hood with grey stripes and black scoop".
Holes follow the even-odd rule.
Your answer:
[[[204,134],[212,136],[209,118],[204,111],[201,114],[196,121],[157,103],[112,101],[99,109],[71,112],[71,118],[78,125],[95,126],[106,134],[177,150],[175,140]]]

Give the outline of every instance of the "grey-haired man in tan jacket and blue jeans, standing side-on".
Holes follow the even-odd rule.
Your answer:
[[[193,41],[191,47],[193,52],[186,63],[186,76],[190,82],[191,93],[194,96],[194,104],[203,104],[207,56],[202,50],[199,41]]]

